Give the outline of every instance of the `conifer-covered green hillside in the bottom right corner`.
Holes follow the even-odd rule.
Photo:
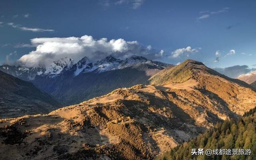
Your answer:
[[[207,149],[251,149],[251,155],[193,155],[192,148]],[[227,120],[218,123],[216,127],[207,130],[196,139],[177,146],[170,152],[166,152],[157,160],[255,160],[256,159],[256,108],[245,113],[237,122]]]

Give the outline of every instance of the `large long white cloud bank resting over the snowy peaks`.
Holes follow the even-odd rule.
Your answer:
[[[34,38],[31,45],[37,46],[35,51],[23,55],[17,60],[17,65],[27,67],[49,66],[54,60],[63,57],[72,57],[75,61],[87,57],[89,60],[100,60],[113,55],[116,58],[125,59],[132,55],[144,56],[148,59],[157,59],[163,54],[154,49],[140,45],[137,41],[125,41],[124,39],[106,38],[94,39],[92,36],[67,38]],[[24,46],[24,47],[27,47]]]

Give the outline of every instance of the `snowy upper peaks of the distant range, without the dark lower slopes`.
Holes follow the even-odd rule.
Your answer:
[[[60,75],[64,71],[73,72],[73,76],[78,76],[82,73],[95,72],[102,73],[110,70],[123,69],[139,64],[148,64],[159,69],[162,67],[168,66],[166,63],[157,62],[153,60],[148,60],[145,57],[133,55],[130,58],[125,60],[116,59],[113,56],[108,56],[102,60],[90,61],[87,57],[82,58],[77,63],[74,62],[72,58],[62,58],[52,62],[49,67],[37,67],[37,68],[28,68],[21,66],[10,66],[2,65],[0,70],[21,78],[22,80],[34,80],[36,76],[47,76],[48,78],[54,78],[55,76]]]

